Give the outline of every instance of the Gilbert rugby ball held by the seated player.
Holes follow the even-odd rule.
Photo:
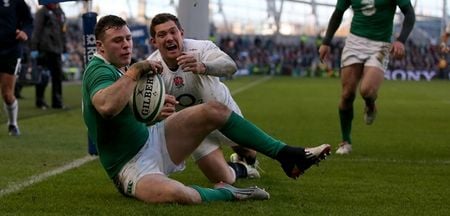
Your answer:
[[[158,117],[164,105],[164,81],[159,74],[143,74],[136,83],[130,98],[134,117],[140,122],[151,123]]]

